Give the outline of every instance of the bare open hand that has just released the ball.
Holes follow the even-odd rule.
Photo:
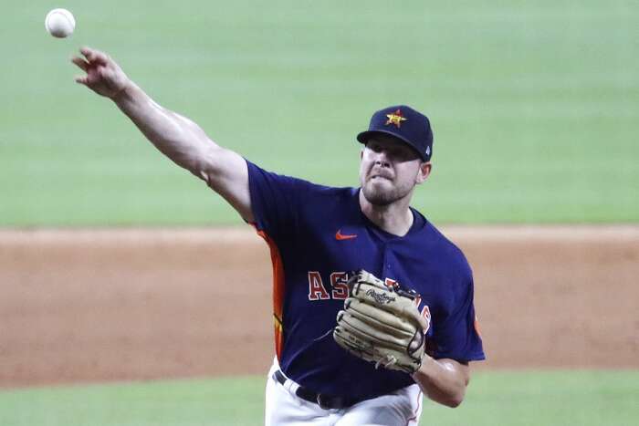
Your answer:
[[[82,47],[80,53],[84,57],[73,57],[71,62],[87,73],[76,78],[101,96],[115,99],[122,90],[130,85],[130,80],[118,64],[109,55],[89,47]]]

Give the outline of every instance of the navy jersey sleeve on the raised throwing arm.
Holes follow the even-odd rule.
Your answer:
[[[276,241],[295,234],[299,225],[299,203],[305,181],[265,171],[250,161],[248,189],[257,231]]]

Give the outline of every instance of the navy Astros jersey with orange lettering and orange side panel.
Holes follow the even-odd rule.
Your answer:
[[[373,398],[414,383],[375,369],[332,338],[350,271],[365,269],[421,295],[434,358],[484,359],[465,256],[414,213],[408,234],[388,234],[361,213],[358,188],[331,188],[247,161],[255,226],[274,266],[276,354],[288,378],[316,392]]]

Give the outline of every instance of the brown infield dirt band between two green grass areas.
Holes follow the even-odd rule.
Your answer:
[[[474,366],[639,368],[639,226],[443,229],[475,273]],[[0,295],[4,388],[273,358],[270,257],[248,228],[0,231]]]

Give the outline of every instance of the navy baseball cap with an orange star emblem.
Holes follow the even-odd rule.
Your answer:
[[[403,140],[429,161],[433,155],[433,130],[428,117],[406,105],[380,109],[371,118],[368,130],[357,135],[361,143],[368,142],[376,134],[386,134]]]

